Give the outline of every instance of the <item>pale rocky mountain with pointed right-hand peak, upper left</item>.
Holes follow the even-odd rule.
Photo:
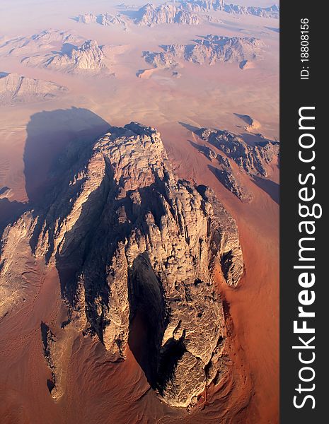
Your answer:
[[[96,40],[87,40],[80,47],[74,45],[68,47],[68,49],[62,48],[60,52],[25,57],[22,63],[66,73],[109,71],[110,65],[103,48],[98,46]]]

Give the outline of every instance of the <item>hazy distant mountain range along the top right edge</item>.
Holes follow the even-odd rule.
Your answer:
[[[237,15],[253,15],[275,19],[279,19],[280,11],[277,4],[269,7],[241,6],[240,4],[226,4],[224,0],[183,0],[181,4],[191,11],[224,11]]]

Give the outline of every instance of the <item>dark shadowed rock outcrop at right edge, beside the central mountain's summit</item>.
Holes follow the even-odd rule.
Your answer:
[[[275,163],[279,155],[279,143],[277,141],[265,139],[251,146],[241,136],[229,131],[202,128],[197,131],[197,134],[225,153],[228,158],[233,159],[241,170],[249,175],[267,177],[267,165]]]

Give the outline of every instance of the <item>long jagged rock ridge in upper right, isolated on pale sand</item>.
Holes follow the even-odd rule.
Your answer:
[[[265,47],[264,43],[255,37],[220,37],[207,35],[200,40],[194,40],[194,45],[164,45],[164,52],[143,52],[143,57],[149,64],[157,68],[172,68],[183,59],[196,64],[214,64],[221,62],[252,61],[257,59]]]

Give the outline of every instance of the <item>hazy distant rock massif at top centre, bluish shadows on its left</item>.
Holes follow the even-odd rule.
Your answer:
[[[137,12],[135,23],[154,26],[161,23],[178,23],[181,25],[200,25],[201,20],[195,13],[185,10],[183,6],[174,4],[145,4]]]

